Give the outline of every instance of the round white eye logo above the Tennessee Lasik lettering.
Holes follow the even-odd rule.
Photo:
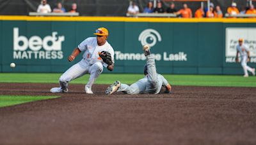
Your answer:
[[[146,29],[140,33],[139,41],[141,45],[149,45],[150,47],[156,45],[157,40],[162,41],[161,35],[154,29]]]

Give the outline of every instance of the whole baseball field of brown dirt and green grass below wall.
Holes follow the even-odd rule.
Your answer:
[[[166,74],[172,94],[105,95],[143,74],[102,74],[88,95],[86,75],[50,93],[60,75],[0,74],[0,144],[256,144],[256,77]]]

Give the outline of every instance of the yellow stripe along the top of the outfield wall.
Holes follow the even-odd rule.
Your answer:
[[[26,21],[87,21],[87,22],[221,22],[221,23],[256,23],[256,18],[131,18],[131,17],[30,17],[0,16],[0,20]]]

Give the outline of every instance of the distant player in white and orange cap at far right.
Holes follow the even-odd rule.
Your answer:
[[[244,77],[248,77],[248,71],[252,72],[253,76],[255,76],[255,69],[252,67],[247,66],[247,62],[250,62],[250,52],[247,45],[243,44],[243,39],[238,40],[239,44],[236,46],[236,62],[239,62],[238,60],[238,53],[240,53],[241,57],[241,66],[244,70]]]

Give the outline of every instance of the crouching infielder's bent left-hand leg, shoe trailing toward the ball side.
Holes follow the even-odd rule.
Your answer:
[[[59,79],[60,87],[52,88],[52,93],[68,92],[68,82],[79,78],[88,72],[88,65],[80,61],[65,71]]]

